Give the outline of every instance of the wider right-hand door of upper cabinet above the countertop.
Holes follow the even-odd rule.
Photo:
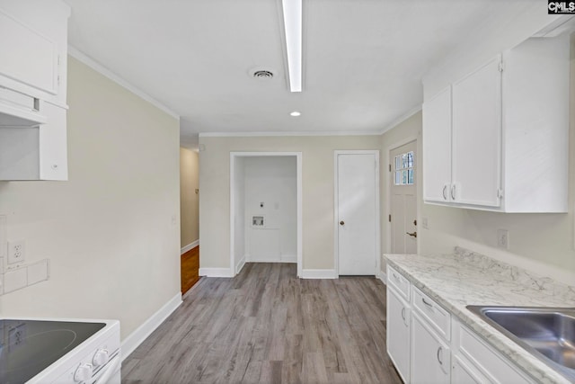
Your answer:
[[[499,207],[501,173],[500,56],[453,85],[455,202]]]

